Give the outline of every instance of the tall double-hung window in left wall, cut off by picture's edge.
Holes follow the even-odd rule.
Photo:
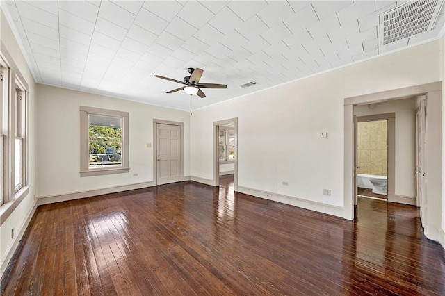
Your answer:
[[[15,202],[17,206],[28,192],[27,88],[22,75],[0,53],[0,205]]]

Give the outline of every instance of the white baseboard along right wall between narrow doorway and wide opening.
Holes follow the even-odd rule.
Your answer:
[[[246,195],[253,195],[254,197],[261,197],[264,199],[273,200],[275,202],[281,202],[283,204],[289,204],[291,206],[298,206],[299,208],[306,208],[307,210],[311,211],[334,215],[337,217],[343,218],[344,215],[344,208],[342,206],[332,206],[330,204],[312,202],[307,199],[300,199],[298,197],[291,197],[288,195],[280,195],[273,192],[266,192],[263,190],[257,190],[239,185],[238,192],[245,193]]]

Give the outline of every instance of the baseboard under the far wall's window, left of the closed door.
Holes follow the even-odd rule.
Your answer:
[[[93,197],[96,195],[106,195],[108,193],[122,192],[122,191],[140,189],[140,188],[146,188],[146,187],[152,187],[152,186],[156,186],[154,181],[143,182],[143,183],[133,183],[133,184],[128,184],[128,185],[108,187],[108,188],[99,188],[99,189],[79,191],[79,192],[63,193],[63,194],[59,194],[59,195],[47,195],[47,196],[38,197],[37,204],[38,204],[38,206],[40,206],[42,204],[53,204],[55,202],[65,202],[67,200],[72,200],[72,199],[81,199],[81,198],[85,198],[85,197]]]

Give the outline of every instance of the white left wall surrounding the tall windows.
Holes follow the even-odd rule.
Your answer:
[[[0,275],[3,274],[10,257],[15,252],[19,240],[22,238],[29,218],[35,209],[35,192],[37,182],[35,179],[36,158],[35,158],[35,82],[26,60],[22,55],[17,41],[10,29],[10,26],[0,8],[0,40],[4,47],[12,56],[13,62],[17,65],[18,71],[29,85],[29,193],[22,202],[15,208],[8,218],[0,226]],[[15,229],[15,237],[11,238],[11,229]]]

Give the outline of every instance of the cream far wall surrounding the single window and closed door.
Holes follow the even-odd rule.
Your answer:
[[[184,122],[184,175],[190,174],[188,112],[37,85],[38,198],[153,181],[153,119]],[[81,177],[80,106],[129,112],[126,174]],[[138,174],[138,176],[133,176]]]

